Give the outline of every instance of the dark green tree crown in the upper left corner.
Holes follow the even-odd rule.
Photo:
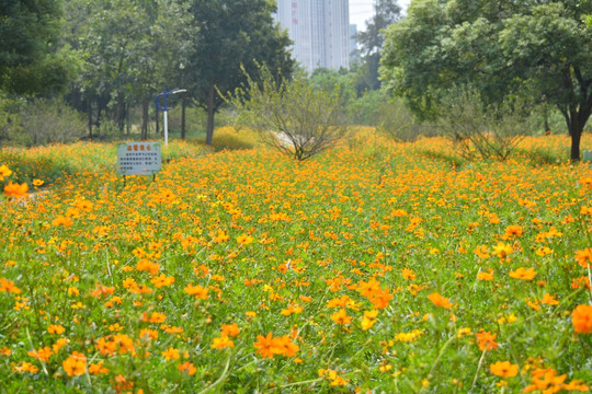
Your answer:
[[[15,94],[62,90],[71,72],[58,46],[60,2],[0,3],[0,89]]]

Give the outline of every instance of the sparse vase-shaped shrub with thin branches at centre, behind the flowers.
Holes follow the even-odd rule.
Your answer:
[[[349,115],[340,86],[314,88],[305,76],[277,81],[266,67],[261,81],[228,95],[238,108],[239,125],[259,132],[262,141],[298,161],[333,148],[346,132]]]

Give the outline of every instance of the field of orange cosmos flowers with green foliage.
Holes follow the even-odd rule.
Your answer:
[[[358,138],[125,188],[109,144],[45,148],[78,169],[49,187],[0,162],[1,391],[589,392],[589,164]]]

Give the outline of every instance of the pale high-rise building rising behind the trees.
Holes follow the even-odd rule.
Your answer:
[[[288,31],[293,56],[308,72],[350,66],[349,0],[277,0],[275,19]]]

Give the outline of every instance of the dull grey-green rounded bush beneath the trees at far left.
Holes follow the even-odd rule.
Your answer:
[[[84,135],[86,123],[61,100],[36,99],[21,108],[20,128],[21,132],[10,134],[10,140],[32,147],[78,140]]]

